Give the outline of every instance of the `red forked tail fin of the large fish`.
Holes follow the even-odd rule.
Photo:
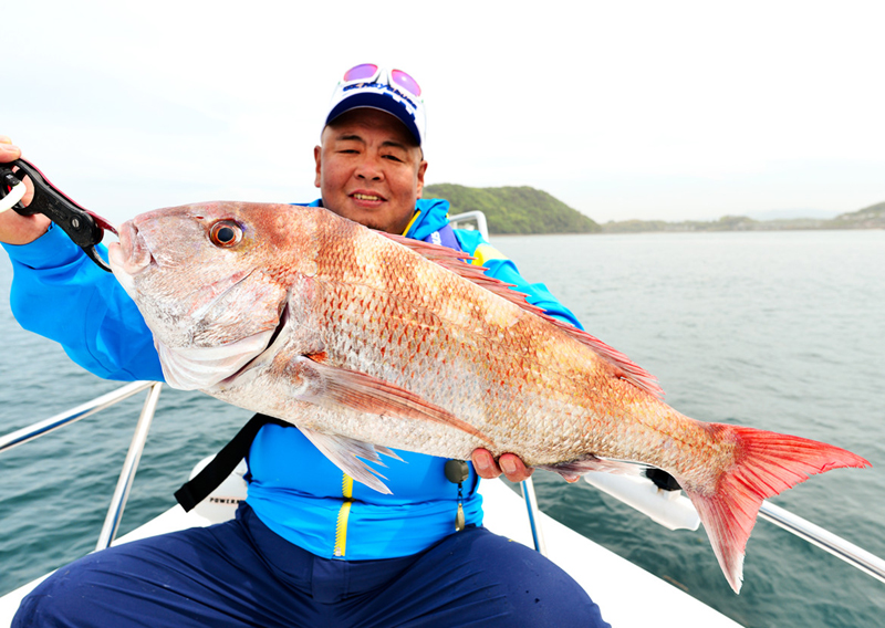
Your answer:
[[[698,511],[719,566],[735,593],[743,582],[743,552],[767,498],[815,473],[870,462],[851,451],[800,437],[738,426],[708,423],[737,443],[732,464],[710,486],[691,488],[676,477]],[[723,433],[723,436],[726,436]]]

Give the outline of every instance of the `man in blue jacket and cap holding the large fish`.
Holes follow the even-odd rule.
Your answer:
[[[490,273],[556,315],[574,317],[476,233],[456,232],[445,201],[419,200],[427,163],[417,83],[374,65],[345,74],[314,148],[314,203],[375,229],[477,254]],[[0,144],[0,161],[18,157]],[[59,341],[96,375],[163,379],[149,331],[111,275],[42,217],[0,214],[15,268],[19,322]],[[41,304],[52,300],[56,307]],[[58,304],[65,324],[59,325]],[[249,496],[235,521],[100,552],[60,569],[17,626],[604,626],[583,589],[539,554],[481,527],[477,473],[462,485],[445,460],[398,452],[393,495],[354,483],[296,429],[264,426],[248,457]],[[500,464],[521,480],[512,454]],[[462,490],[462,499],[458,493]],[[454,532],[457,504],[467,527]]]

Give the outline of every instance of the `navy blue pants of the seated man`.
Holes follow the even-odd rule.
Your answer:
[[[60,568],[18,627],[608,626],[565,572],[469,527],[386,561],[330,561],[237,519],[127,543]]]

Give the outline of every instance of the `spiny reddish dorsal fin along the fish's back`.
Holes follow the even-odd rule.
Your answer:
[[[525,294],[517,292],[516,290],[510,290],[513,286],[512,283],[506,283],[494,278],[490,278],[483,272],[487,270],[486,268],[475,266],[473,264],[466,262],[465,260],[475,259],[471,255],[468,255],[462,251],[456,251],[454,249],[449,249],[448,247],[439,247],[421,240],[413,240],[410,238],[394,236],[393,233],[385,233],[383,231],[378,231],[378,233],[389,238],[398,244],[406,247],[407,249],[415,251],[427,260],[436,262],[442,268],[450,270],[455,274],[471,281],[490,292],[493,292],[510,303],[519,305],[527,312],[531,312],[532,314],[541,316],[545,321],[562,329],[565,334],[572,336],[581,344],[591,348],[593,353],[612,365],[615,368],[615,375],[617,377],[629,381],[641,390],[645,390],[658,399],[664,398],[664,390],[658,385],[654,375],[645,370],[620,350],[610,347],[595,336],[591,336],[577,327],[573,327],[568,323],[554,318],[553,316],[546,315],[543,310],[525,301]]]

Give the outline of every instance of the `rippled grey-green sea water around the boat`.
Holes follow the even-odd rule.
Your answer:
[[[494,244],[589,332],[656,375],[685,415],[867,458],[873,469],[815,477],[772,501],[885,557],[885,231],[501,237]],[[18,327],[10,281],[0,255],[0,433],[118,386]],[[94,547],[143,399],[0,453],[0,593]],[[249,416],[164,387],[122,532],[171,506],[192,465]],[[702,528],[670,532],[583,482],[534,477],[552,516],[745,626],[883,625],[885,584],[766,521],[748,543],[736,596]],[[641,603],[642,592],[634,594]]]

